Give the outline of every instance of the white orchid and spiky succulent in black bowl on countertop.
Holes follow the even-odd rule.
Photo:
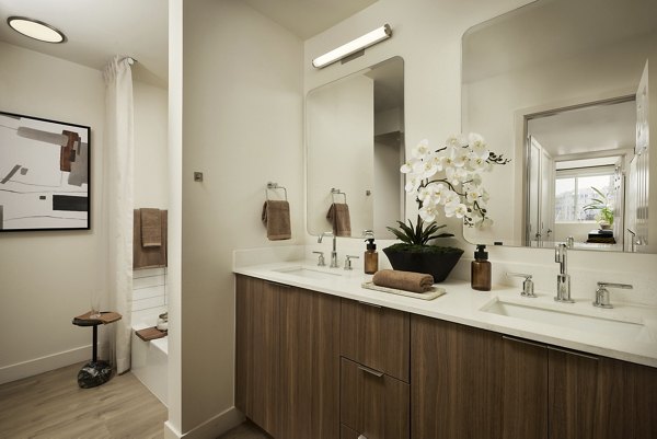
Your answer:
[[[452,136],[446,146],[437,150],[422,140],[412,150],[412,158],[402,165],[407,175],[405,190],[415,196],[418,215],[415,224],[397,221],[397,228],[388,229],[401,243],[383,249],[394,269],[428,273],[435,282],[447,278],[459,262],[463,250],[433,245],[430,241],[453,236],[439,233],[446,226],[435,221],[440,212],[446,217],[462,218],[468,227],[488,227],[493,223],[487,216],[488,193],[482,185],[481,173],[492,170],[494,164],[506,164],[509,160],[488,150],[482,136]]]

